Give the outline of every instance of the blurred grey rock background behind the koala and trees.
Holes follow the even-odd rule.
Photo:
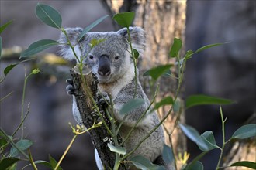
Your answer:
[[[64,27],[88,26],[107,15],[108,10],[99,0],[95,1],[40,1],[56,8],[62,16]],[[0,2],[1,25],[14,20],[2,33],[3,47],[26,48],[40,39],[58,39],[59,32],[36,19],[37,1]],[[186,25],[186,49],[198,49],[210,43],[231,42],[214,47],[194,56],[187,65],[185,75],[186,96],[205,93],[236,100],[237,104],[223,107],[227,119],[227,135],[234,132],[255,113],[255,39],[256,3],[243,1],[188,1]],[[112,31],[112,20],[106,19],[92,31]],[[57,49],[47,50],[56,53]],[[16,59],[0,60],[3,75],[5,66],[16,63]],[[26,138],[34,141],[34,159],[48,160],[50,154],[57,160],[71,141],[68,122],[75,124],[71,114],[71,97],[66,94],[65,80],[68,66],[40,65],[35,61],[20,64],[12,70],[0,86],[0,97],[13,91],[0,105],[0,126],[12,134],[20,121],[22,86],[24,73],[34,66],[42,66],[41,73],[29,79],[25,106],[30,103],[26,120]],[[73,64],[73,65],[72,65]],[[52,74],[55,73],[55,74]],[[26,107],[25,107],[26,108]],[[219,107],[195,107],[186,112],[187,124],[200,132],[213,131],[221,142]],[[199,149],[189,142],[191,157]],[[216,165],[216,154],[212,151],[203,159],[205,169]],[[95,169],[94,151],[88,134],[81,135],[61,164],[64,169]],[[29,168],[28,168],[29,169]],[[43,168],[40,168],[43,169]]]

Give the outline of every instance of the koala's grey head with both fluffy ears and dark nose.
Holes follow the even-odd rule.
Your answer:
[[[77,56],[84,57],[84,63],[91,69],[92,73],[99,79],[99,83],[111,83],[133,69],[133,60],[130,55],[127,29],[120,29],[117,32],[88,32],[77,43],[81,28],[65,29],[71,44],[76,46],[74,51]],[[130,39],[133,49],[137,49],[140,55],[144,52],[144,30],[140,27],[130,27]],[[99,45],[91,48],[92,39],[106,39]],[[66,36],[61,33],[59,42],[67,43]],[[75,59],[74,53],[69,46],[61,46],[61,56],[66,59]]]

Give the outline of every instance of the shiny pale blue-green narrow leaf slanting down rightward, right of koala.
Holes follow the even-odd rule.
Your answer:
[[[201,148],[203,151],[208,151],[209,148],[206,145],[205,141],[202,140],[200,134],[198,131],[195,130],[195,128],[192,128],[189,125],[185,125],[185,124],[178,124],[179,127],[182,129],[183,133],[190,138],[190,140],[194,141],[196,143],[196,145],[199,146],[199,148]]]

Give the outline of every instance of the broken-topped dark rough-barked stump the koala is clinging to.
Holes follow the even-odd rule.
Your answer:
[[[83,71],[83,76],[81,76],[76,67],[71,70],[71,76],[73,78],[74,88],[76,89],[75,100],[85,127],[91,128],[94,123],[99,123],[103,118],[107,126],[110,128],[109,118],[104,113],[102,107],[99,106],[99,111],[102,113],[102,118],[94,109],[95,104],[93,103],[93,100],[95,103],[98,101],[97,77],[86,68],[85,72]],[[115,154],[114,152],[110,151],[107,146],[111,140],[111,135],[106,130],[106,127],[102,124],[100,127],[90,130],[89,133],[92,136],[93,144],[99,153],[103,166],[106,169],[112,169],[115,164]]]

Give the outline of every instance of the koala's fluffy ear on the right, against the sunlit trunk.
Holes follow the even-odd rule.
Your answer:
[[[119,34],[124,36],[126,39],[128,39],[128,33],[127,29],[123,28],[120,29]],[[144,29],[135,26],[135,27],[129,27],[130,32],[130,40],[132,42],[133,49],[137,49],[137,51],[142,55],[144,53],[145,49],[145,32]]]

